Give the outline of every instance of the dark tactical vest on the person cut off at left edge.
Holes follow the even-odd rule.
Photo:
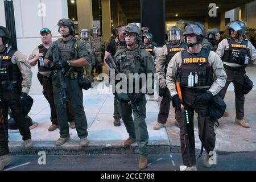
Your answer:
[[[16,64],[11,63],[11,58],[16,51],[14,49],[10,49],[6,55],[5,51],[1,53],[0,57],[0,59],[2,59],[3,56],[0,68],[0,81],[19,81],[21,78],[20,70]]]

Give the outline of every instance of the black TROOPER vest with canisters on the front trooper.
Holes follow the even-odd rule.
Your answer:
[[[210,51],[202,48],[196,55],[191,55],[187,50],[181,51],[181,66],[178,68],[181,86],[188,86],[188,76],[193,75],[194,83],[195,76],[198,76],[198,83],[194,86],[210,86],[213,81],[213,70],[208,62]]]

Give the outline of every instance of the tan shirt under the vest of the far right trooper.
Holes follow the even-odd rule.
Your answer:
[[[241,39],[241,42],[243,41],[243,39]],[[253,44],[251,44],[251,42],[248,40],[248,45],[247,48],[249,49],[249,53],[250,53],[250,59],[251,61],[253,61],[253,64],[256,64],[256,49],[253,46]],[[216,53],[218,56],[222,57],[224,55],[225,50],[229,49],[229,43],[228,43],[228,39],[223,39],[219,44],[218,44],[218,48],[216,50]],[[225,61],[223,61],[224,64],[230,66],[230,67],[241,67],[241,64],[236,64],[236,63],[227,63]]]

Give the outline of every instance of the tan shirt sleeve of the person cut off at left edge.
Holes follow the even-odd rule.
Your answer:
[[[13,57],[11,57],[11,63],[16,64],[22,73],[22,92],[28,94],[28,92],[30,92],[32,82],[32,71],[30,64],[27,62],[27,56],[16,51]]]

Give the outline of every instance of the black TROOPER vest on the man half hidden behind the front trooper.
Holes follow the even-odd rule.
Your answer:
[[[166,55],[166,63],[165,63],[166,68],[164,69],[165,74],[167,71],[168,64],[170,63],[172,57],[174,57],[174,55],[177,52],[185,50],[187,48],[187,45],[184,42],[181,42],[179,46],[175,47],[172,45],[172,43],[168,43],[166,44],[166,47],[167,47],[168,54]]]

